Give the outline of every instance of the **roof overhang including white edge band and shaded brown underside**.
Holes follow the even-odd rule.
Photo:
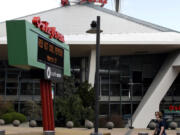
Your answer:
[[[65,35],[72,57],[89,56],[95,49],[96,35]],[[180,49],[180,34],[175,32],[101,34],[101,55],[167,53]],[[7,38],[0,38],[7,45]],[[4,48],[7,52],[6,47]]]

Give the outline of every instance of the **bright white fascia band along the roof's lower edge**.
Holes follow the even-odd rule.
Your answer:
[[[70,45],[94,45],[96,35],[66,35],[65,40]],[[100,43],[101,45],[180,45],[180,34],[175,32],[101,34]]]

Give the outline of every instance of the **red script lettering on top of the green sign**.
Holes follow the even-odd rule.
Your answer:
[[[65,42],[64,36],[56,31],[56,27],[49,27],[49,23],[47,21],[41,21],[40,17],[34,17],[32,23],[41,31],[49,34],[49,38],[55,38],[60,42]]]

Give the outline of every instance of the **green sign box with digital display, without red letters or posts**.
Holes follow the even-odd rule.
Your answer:
[[[46,64],[64,70],[70,76],[69,45],[49,38],[49,35],[25,20],[6,22],[9,65],[23,69],[44,69]]]

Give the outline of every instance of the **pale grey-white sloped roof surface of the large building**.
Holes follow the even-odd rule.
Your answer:
[[[62,34],[72,35],[84,34],[89,29],[91,21],[96,20],[97,15],[101,16],[101,28],[104,34],[177,32],[93,4],[58,7],[17,20],[25,19],[31,22],[34,16],[40,16]],[[0,24],[0,29],[0,37],[6,36],[5,23]]]

